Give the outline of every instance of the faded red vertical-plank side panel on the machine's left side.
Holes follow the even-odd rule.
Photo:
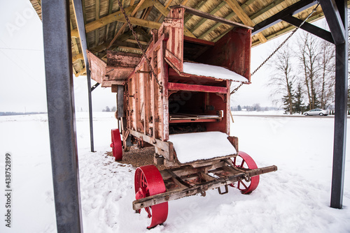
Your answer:
[[[127,80],[128,128],[153,139],[169,139],[169,110],[167,96],[167,63],[165,63],[165,36],[153,42],[146,51],[156,78],[151,75],[146,59],[135,68]]]

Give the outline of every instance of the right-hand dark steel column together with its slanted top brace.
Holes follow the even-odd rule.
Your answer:
[[[342,209],[346,153],[348,91],[348,24],[345,0],[321,0],[335,41],[335,125],[330,207]]]

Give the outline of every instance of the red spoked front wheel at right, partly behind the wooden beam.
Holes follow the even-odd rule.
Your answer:
[[[238,156],[232,159],[233,164],[236,167],[248,168],[248,169],[257,169],[258,166],[254,162],[253,158],[248,155],[248,153],[244,153],[243,151],[238,152]],[[243,194],[249,194],[258,187],[260,180],[260,176],[251,177],[250,181],[241,180],[238,181],[237,188],[241,190]]]

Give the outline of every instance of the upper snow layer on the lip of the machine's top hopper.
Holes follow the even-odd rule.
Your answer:
[[[248,80],[245,77],[235,73],[232,70],[229,70],[221,66],[211,66],[211,65],[202,64],[202,63],[184,62],[183,73],[188,73],[190,75],[215,77],[216,79],[219,79],[219,80],[248,82]]]

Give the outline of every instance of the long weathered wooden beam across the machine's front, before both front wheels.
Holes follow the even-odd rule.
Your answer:
[[[135,200],[134,202],[132,202],[132,209],[138,210],[138,209],[146,208],[148,206],[153,206],[155,204],[177,200],[182,197],[196,195],[197,193],[201,193],[203,191],[205,192],[206,190],[211,190],[224,185],[235,183],[240,179],[244,179],[244,176],[246,175],[253,177],[253,176],[258,176],[260,174],[265,174],[267,172],[274,172],[276,170],[277,170],[276,166],[262,167],[255,170],[249,170],[247,172],[240,172],[232,176],[221,177],[213,181],[203,182],[191,188],[181,188],[178,190],[172,190],[169,192],[160,193],[150,197],[141,198],[139,200]]]

